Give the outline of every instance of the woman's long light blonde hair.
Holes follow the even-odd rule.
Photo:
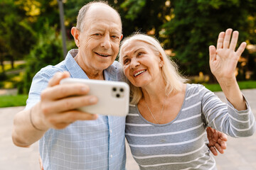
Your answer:
[[[181,76],[178,72],[178,67],[175,62],[173,62],[169,56],[164,52],[164,48],[161,47],[159,40],[153,38],[149,35],[144,35],[142,33],[135,33],[134,35],[125,38],[121,42],[120,52],[119,52],[119,62],[123,64],[123,54],[122,50],[125,46],[132,43],[132,41],[141,41],[149,44],[151,46],[151,50],[154,50],[157,55],[161,56],[164,62],[163,67],[161,67],[161,74],[164,77],[164,82],[166,84],[166,94],[171,94],[172,91],[181,91],[182,84],[187,81],[184,77]],[[134,86],[129,82],[129,86],[131,89],[131,104],[137,104],[139,100],[142,98],[142,88]]]

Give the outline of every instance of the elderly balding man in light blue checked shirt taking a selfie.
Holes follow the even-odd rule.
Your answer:
[[[97,98],[86,95],[90,89],[84,84],[59,84],[66,77],[124,79],[114,62],[122,40],[121,18],[104,2],[91,2],[80,9],[71,33],[78,50],[33,78],[26,109],[14,118],[14,144],[28,147],[40,140],[44,169],[125,169],[125,118],[75,110]]]

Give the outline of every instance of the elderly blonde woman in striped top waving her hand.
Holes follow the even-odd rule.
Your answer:
[[[216,169],[206,127],[232,137],[255,132],[255,118],[235,79],[238,31],[220,33],[210,50],[210,70],[227,104],[200,84],[186,84],[159,42],[136,34],[123,40],[119,62],[130,81],[126,137],[140,169]],[[232,39],[230,41],[232,35]]]

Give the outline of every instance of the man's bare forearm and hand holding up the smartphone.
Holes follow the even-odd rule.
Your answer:
[[[97,115],[77,111],[76,108],[97,103],[85,84],[61,84],[70,77],[68,72],[58,72],[41,93],[41,101],[14,117],[12,139],[18,147],[29,147],[43,137],[49,128],[63,129],[76,120],[95,120]]]

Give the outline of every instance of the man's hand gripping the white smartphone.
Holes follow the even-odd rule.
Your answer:
[[[86,84],[60,84],[70,77],[68,72],[58,72],[50,79],[48,88],[41,94],[41,102],[32,108],[33,124],[39,130],[63,129],[76,120],[95,120],[97,115],[79,111],[77,108],[97,103],[97,97],[87,95],[90,88]]]

